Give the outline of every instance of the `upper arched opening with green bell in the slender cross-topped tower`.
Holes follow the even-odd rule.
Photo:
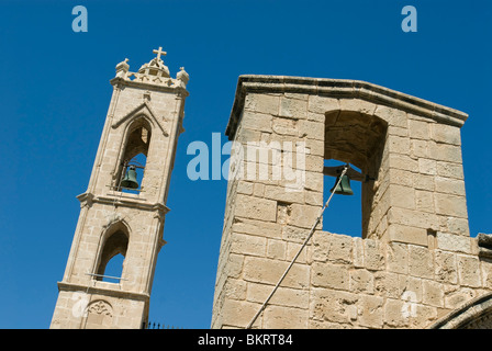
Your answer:
[[[142,191],[150,136],[150,126],[145,118],[141,117],[132,124],[116,174],[119,191],[128,193]]]

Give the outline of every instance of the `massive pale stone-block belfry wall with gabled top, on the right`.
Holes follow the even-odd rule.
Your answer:
[[[245,328],[278,283],[323,206],[326,159],[373,178],[356,195],[362,233],[320,223],[254,328],[425,328],[490,292],[468,229],[466,118],[366,82],[241,77],[226,134],[242,177],[227,186],[212,327]],[[249,158],[258,146],[270,158]],[[273,177],[279,165],[298,179]]]

